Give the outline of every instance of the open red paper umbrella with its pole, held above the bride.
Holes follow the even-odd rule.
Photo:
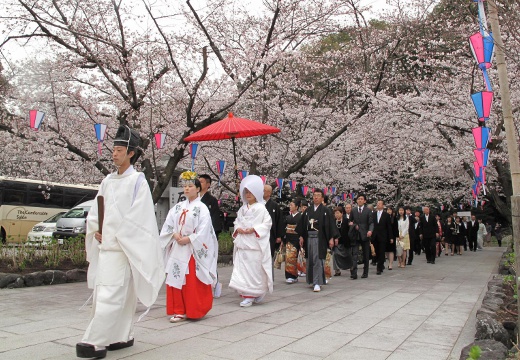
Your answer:
[[[233,116],[233,113],[229,113],[227,118],[217,121],[216,123],[206,126],[204,129],[191,134],[184,138],[184,141],[192,142],[231,139],[233,143],[233,158],[235,160],[235,179],[238,183],[235,139],[268,135],[278,132],[280,132],[280,129],[277,127],[265,125],[253,120],[236,118]]]

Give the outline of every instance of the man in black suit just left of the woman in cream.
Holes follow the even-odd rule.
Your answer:
[[[385,202],[377,201],[376,211],[373,213],[374,232],[372,233],[372,242],[376,247],[377,256],[377,275],[381,275],[385,268],[385,252],[387,244],[392,244],[393,238],[392,224],[390,215],[385,211]]]

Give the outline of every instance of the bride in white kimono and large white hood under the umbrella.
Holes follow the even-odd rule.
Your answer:
[[[269,234],[271,216],[263,200],[264,183],[259,176],[248,175],[240,183],[244,203],[235,220],[233,273],[229,287],[243,298],[240,306],[262,302],[273,292],[273,265]]]

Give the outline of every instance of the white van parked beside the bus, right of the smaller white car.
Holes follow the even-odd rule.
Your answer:
[[[58,243],[63,244],[66,239],[85,235],[87,228],[87,215],[94,205],[90,200],[75,206],[67,211],[56,223],[56,231],[52,234]]]

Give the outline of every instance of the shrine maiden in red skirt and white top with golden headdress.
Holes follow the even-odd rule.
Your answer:
[[[170,322],[200,319],[213,305],[217,280],[218,242],[208,208],[198,195],[197,174],[185,171],[186,200],[169,212],[161,230],[166,263],[166,313]]]

